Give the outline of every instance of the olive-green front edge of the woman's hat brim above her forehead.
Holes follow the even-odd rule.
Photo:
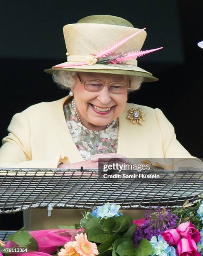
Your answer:
[[[143,77],[143,82],[156,82],[158,81],[157,77],[154,77],[150,73],[140,72],[135,70],[123,70],[123,69],[79,69],[79,68],[50,68],[45,69],[44,72],[48,74],[53,74],[55,71],[75,71],[75,72],[91,72],[91,73],[103,73],[103,74],[121,74],[128,76],[138,76]]]

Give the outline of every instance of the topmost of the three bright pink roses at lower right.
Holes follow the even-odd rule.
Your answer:
[[[196,230],[196,228],[193,226],[193,224],[190,221],[181,223],[178,226],[178,228],[176,228],[176,230],[178,231],[178,233],[180,233],[180,235],[183,238],[193,238],[195,242],[200,241],[200,238],[201,238],[200,233],[198,230]]]

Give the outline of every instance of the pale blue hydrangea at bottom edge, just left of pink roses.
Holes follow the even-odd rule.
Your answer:
[[[155,236],[151,238],[150,244],[152,245],[151,256],[175,256],[175,248],[169,246],[163,239],[163,236],[159,235],[158,240]]]

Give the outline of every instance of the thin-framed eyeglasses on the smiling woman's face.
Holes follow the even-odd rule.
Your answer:
[[[79,75],[78,78],[81,84],[83,84],[85,90],[88,92],[100,92],[104,87],[104,83],[100,80],[87,80],[83,82]],[[123,82],[113,82],[108,85],[109,92],[114,94],[125,93],[128,91],[128,89],[130,89],[130,81],[129,84],[125,84]]]

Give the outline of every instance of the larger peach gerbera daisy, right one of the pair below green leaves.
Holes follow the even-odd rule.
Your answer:
[[[77,242],[75,251],[77,251],[80,256],[95,256],[99,254],[96,244],[88,241],[86,233],[80,233],[75,236],[75,240]]]

